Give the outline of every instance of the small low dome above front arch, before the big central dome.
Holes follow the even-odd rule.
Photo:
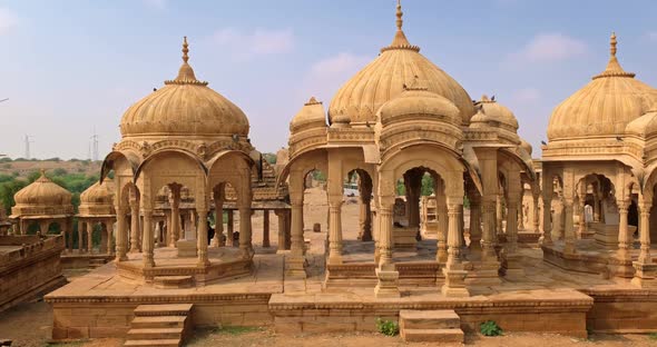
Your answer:
[[[448,99],[425,87],[404,86],[405,90],[396,98],[385,102],[379,113],[381,123],[388,123],[402,119],[432,118],[444,120],[457,126],[461,125],[459,109]]]

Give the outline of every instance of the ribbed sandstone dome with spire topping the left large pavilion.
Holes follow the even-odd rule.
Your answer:
[[[228,99],[199,81],[187,63],[187,39],[178,77],[133,105],[124,113],[120,130],[127,137],[248,136],[246,115]]]

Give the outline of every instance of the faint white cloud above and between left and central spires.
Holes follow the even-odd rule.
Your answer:
[[[233,28],[222,29],[212,36],[219,46],[229,48],[237,57],[277,54],[294,48],[294,33],[291,29],[242,32]]]

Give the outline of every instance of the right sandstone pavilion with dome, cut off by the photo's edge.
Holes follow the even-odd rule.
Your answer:
[[[558,207],[553,217],[543,209],[547,261],[649,285],[650,236],[657,237],[656,102],[657,90],[620,66],[611,34],[607,68],[550,117],[542,199]]]

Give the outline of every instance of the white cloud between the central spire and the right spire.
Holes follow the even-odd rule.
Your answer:
[[[580,40],[561,33],[542,33],[509,58],[513,62],[549,62],[580,57],[587,51],[587,44]]]

